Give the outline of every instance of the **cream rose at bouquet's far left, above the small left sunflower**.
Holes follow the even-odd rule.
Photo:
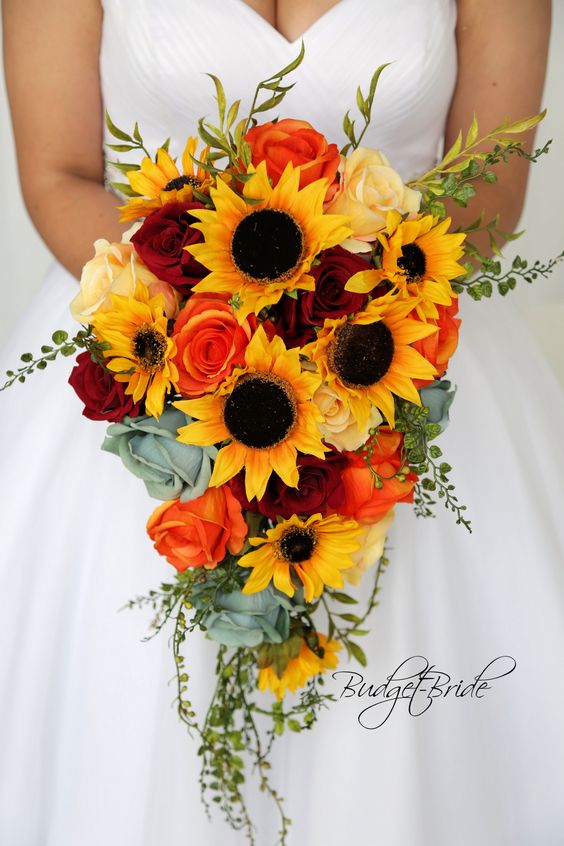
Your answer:
[[[107,310],[110,306],[109,294],[132,297],[137,282],[146,285],[151,296],[163,295],[167,317],[176,315],[179,302],[177,293],[172,286],[157,279],[145,267],[131,244],[111,244],[100,238],[95,241],[94,250],[94,257],[82,269],[80,291],[70,305],[75,320],[83,324],[90,323],[97,311]]]

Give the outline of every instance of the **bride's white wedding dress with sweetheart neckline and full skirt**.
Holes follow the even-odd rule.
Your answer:
[[[341,0],[306,33],[280,116],[342,142],[341,120],[383,74],[365,143],[406,179],[434,161],[456,76],[451,0]],[[101,80],[112,119],[146,145],[181,152],[213,116],[220,76],[248,103],[297,54],[242,0],[105,0]],[[100,236],[104,233],[100,232]],[[25,284],[22,278],[20,284]],[[4,351],[2,371],[56,328],[73,328],[76,282],[54,265]],[[494,658],[516,668],[483,698],[446,697],[418,717],[399,702],[376,730],[367,699],[341,698],[312,732],[275,745],[273,781],[293,820],[289,846],[557,846],[564,843],[564,400],[509,301],[461,303],[449,378],[458,387],[441,446],[473,534],[442,506],[400,506],[372,630],[368,681],[414,655],[473,681]],[[81,417],[49,365],[0,396],[0,843],[3,846],[239,846],[200,806],[197,743],[171,704],[167,636],[126,601],[174,571],[145,534],[156,505]],[[367,596],[370,576],[359,595]],[[199,712],[216,646],[187,647]],[[342,654],[340,669],[359,671]],[[344,677],[328,677],[341,693]],[[370,700],[373,701],[373,700]],[[276,815],[250,779],[258,846]]]

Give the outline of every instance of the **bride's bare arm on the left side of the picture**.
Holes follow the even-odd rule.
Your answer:
[[[104,189],[98,75],[99,0],[3,0],[4,61],[22,193],[59,261],[75,276],[101,233],[119,240]]]

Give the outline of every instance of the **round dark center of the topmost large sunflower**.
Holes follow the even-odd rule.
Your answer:
[[[237,269],[261,285],[283,281],[298,267],[304,236],[294,218],[279,209],[259,209],[237,225],[231,254]]]

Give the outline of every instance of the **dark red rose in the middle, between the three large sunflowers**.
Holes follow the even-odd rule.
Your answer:
[[[287,347],[302,347],[315,339],[314,326],[323,326],[325,318],[336,319],[361,311],[366,294],[345,291],[351,276],[368,270],[368,263],[342,247],[325,250],[320,263],[310,273],[315,278],[315,291],[300,291],[298,299],[282,297],[278,306],[277,333]]]

